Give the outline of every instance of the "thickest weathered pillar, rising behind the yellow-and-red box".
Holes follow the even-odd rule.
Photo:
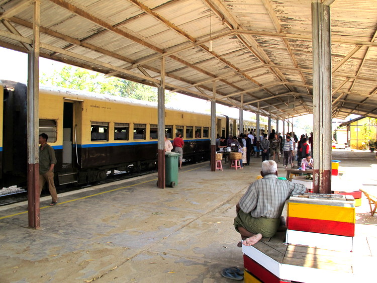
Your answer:
[[[330,7],[312,0],[313,193],[331,194],[331,34]]]

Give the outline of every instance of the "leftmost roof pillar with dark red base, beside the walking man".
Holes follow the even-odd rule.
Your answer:
[[[39,0],[35,1],[33,15],[33,48],[28,52],[28,216],[29,227],[41,225],[39,210]]]

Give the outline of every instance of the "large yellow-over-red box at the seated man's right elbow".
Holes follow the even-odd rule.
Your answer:
[[[355,235],[354,202],[342,195],[309,194],[288,201],[289,230],[353,237]],[[334,196],[334,197],[331,197]]]

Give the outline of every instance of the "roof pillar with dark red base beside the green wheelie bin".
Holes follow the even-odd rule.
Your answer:
[[[165,57],[161,58],[161,83],[157,91],[157,168],[159,188],[165,188]],[[178,166],[178,164],[176,164]]]

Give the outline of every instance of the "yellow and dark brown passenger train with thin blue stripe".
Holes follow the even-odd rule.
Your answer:
[[[27,87],[12,81],[3,81],[3,85],[7,100],[2,172],[3,183],[12,185],[26,181]],[[155,103],[41,86],[39,118],[39,132],[49,136],[48,143],[56,152],[55,176],[59,184],[101,180],[109,170],[131,167],[139,171],[156,166]],[[246,127],[253,123],[244,121]],[[165,109],[165,133],[169,139],[178,131],[182,133],[185,160],[209,159],[210,124],[208,114]],[[236,134],[236,119],[220,115],[216,124],[219,135]],[[263,127],[266,125],[261,124]]]

